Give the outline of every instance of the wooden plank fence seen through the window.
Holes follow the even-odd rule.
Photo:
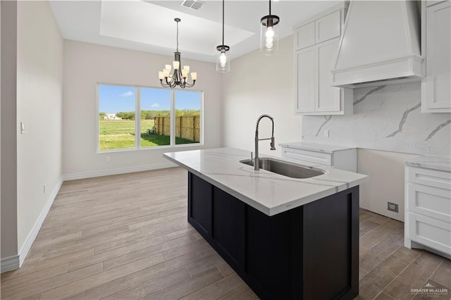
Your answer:
[[[155,117],[155,134],[171,135],[171,118],[169,118],[169,115]],[[175,117],[175,137],[200,142],[200,115]]]

